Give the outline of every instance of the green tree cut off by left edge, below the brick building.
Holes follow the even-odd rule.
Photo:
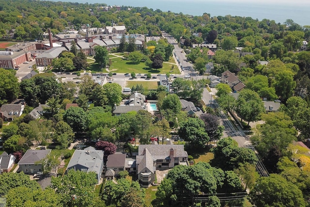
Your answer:
[[[12,71],[0,68],[0,105],[13,101],[19,95],[18,79]]]

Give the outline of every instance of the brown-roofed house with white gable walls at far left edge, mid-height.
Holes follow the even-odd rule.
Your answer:
[[[25,100],[17,99],[11,104],[3,104],[0,108],[0,118],[3,121],[14,121],[15,117],[21,116],[25,109]]]

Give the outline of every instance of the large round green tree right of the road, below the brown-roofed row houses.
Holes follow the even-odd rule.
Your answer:
[[[260,96],[252,90],[245,89],[240,92],[235,103],[235,111],[242,119],[247,120],[249,125],[250,122],[260,120],[265,110]]]

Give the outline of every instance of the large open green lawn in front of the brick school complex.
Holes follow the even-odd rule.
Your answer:
[[[172,64],[163,63],[163,68],[160,69],[152,69],[145,66],[144,63],[140,64],[131,64],[130,61],[122,60],[121,58],[113,58],[111,59],[112,65],[110,66],[110,71],[116,72],[116,73],[160,73],[160,74],[166,74],[166,73],[176,73],[180,74],[179,70],[176,70],[176,65],[174,66],[174,69],[171,69]]]

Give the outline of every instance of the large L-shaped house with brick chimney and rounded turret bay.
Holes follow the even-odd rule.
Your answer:
[[[187,165],[187,159],[183,144],[140,144],[136,168],[141,187],[147,188],[154,182],[156,170]]]

